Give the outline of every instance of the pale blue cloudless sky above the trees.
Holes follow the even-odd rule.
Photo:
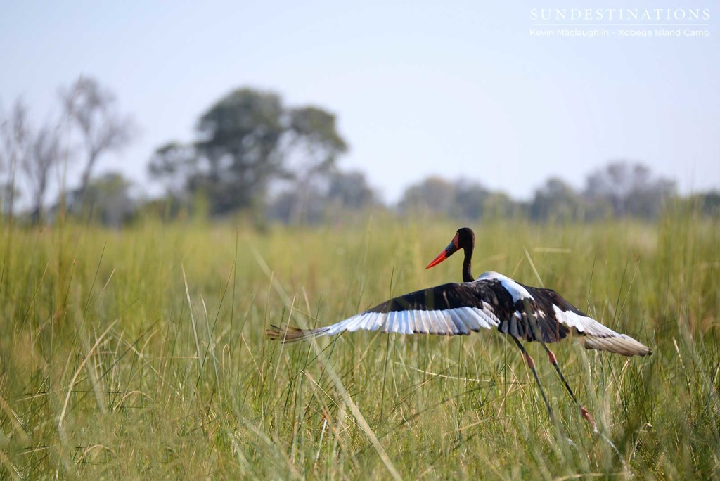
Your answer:
[[[529,198],[549,176],[577,188],[629,158],[683,190],[720,187],[720,8],[708,38],[539,38],[532,8],[571,1],[4,1],[0,101],[37,120],[60,85],[94,76],[142,136],[100,171],[146,182],[168,140],[238,86],[338,114],[343,168],[384,199],[429,174]],[[593,8],[667,2],[585,2]],[[649,27],[652,28],[652,27]]]

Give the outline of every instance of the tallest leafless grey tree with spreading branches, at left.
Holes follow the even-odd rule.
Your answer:
[[[99,158],[125,148],[135,133],[135,124],[117,112],[114,94],[94,78],[78,78],[70,89],[60,91],[60,99],[83,145],[85,167],[77,192],[81,199]]]

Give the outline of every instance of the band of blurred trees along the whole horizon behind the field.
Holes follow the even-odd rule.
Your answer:
[[[151,179],[163,184],[155,199],[132,195],[120,173],[94,176],[109,153],[138,132],[117,99],[94,78],[58,91],[58,114],[40,127],[17,100],[0,103],[0,207],[6,219],[51,222],[75,215],[119,226],[140,215],[166,219],[243,213],[256,224],[295,225],[347,220],[372,210],[396,215],[443,215],[464,220],[523,216],[537,221],[657,218],[679,199],[675,182],[642,163],[615,161],[590,172],[583,189],[553,177],[529,201],[518,201],[474,181],[431,176],[408,186],[396,205],[385,205],[361,171],[339,159],[348,143],[336,116],[322,107],[287,105],[272,91],[240,88],[212,104],[196,123],[194,139],[171,140],[148,159]],[[66,185],[68,166],[80,166]],[[55,199],[46,205],[50,187]],[[17,199],[24,195],[22,210]],[[707,215],[720,212],[720,193],[683,199]]]

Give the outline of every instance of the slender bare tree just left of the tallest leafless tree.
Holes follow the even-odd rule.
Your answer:
[[[60,160],[60,136],[50,125],[45,125],[32,140],[30,153],[24,157],[22,170],[32,185],[32,220],[41,222],[44,217],[45,193],[50,181],[50,169]]]

